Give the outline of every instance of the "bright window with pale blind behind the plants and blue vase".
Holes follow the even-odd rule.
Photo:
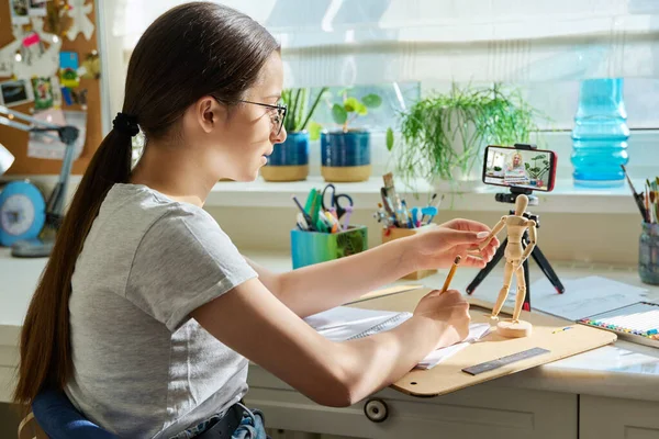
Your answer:
[[[101,37],[110,114],[121,108],[126,53],[153,20],[183,0],[101,2],[110,25]],[[520,87],[543,111],[559,176],[570,177],[570,133],[580,81],[624,78],[629,170],[659,167],[659,2],[652,0],[223,0],[266,26],[280,42],[284,87],[348,87],[377,92],[380,109],[355,121],[375,134],[433,89],[502,82]],[[135,13],[135,11],[142,13]],[[103,50],[104,49],[104,50]],[[395,90],[399,85],[400,90]],[[399,93],[400,91],[400,93]],[[401,99],[402,97],[402,99]],[[108,117],[111,117],[110,114]],[[334,126],[330,105],[315,115]],[[376,136],[375,136],[376,137]],[[384,143],[375,159],[388,160]],[[376,165],[376,164],[373,164]],[[376,168],[377,169],[377,168]],[[373,169],[373,173],[378,170]]]

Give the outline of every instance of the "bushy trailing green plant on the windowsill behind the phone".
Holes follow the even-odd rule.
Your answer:
[[[516,90],[454,83],[447,93],[433,93],[403,112],[400,140],[389,128],[387,147],[398,176],[412,187],[424,179],[448,185],[442,189],[465,189],[480,184],[484,146],[530,143],[532,133],[539,131],[536,120],[543,117]]]

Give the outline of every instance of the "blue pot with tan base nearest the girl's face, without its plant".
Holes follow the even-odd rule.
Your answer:
[[[300,181],[309,176],[309,133],[288,133],[282,144],[276,144],[268,164],[260,169],[266,181]]]

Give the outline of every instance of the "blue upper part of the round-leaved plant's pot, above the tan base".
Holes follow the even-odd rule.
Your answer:
[[[332,168],[370,165],[370,133],[321,133],[321,160]]]

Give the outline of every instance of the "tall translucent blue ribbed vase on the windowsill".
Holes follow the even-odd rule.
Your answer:
[[[572,131],[572,177],[574,185],[614,188],[623,185],[621,165],[627,154],[627,111],[623,79],[588,79],[581,82],[579,109]]]

